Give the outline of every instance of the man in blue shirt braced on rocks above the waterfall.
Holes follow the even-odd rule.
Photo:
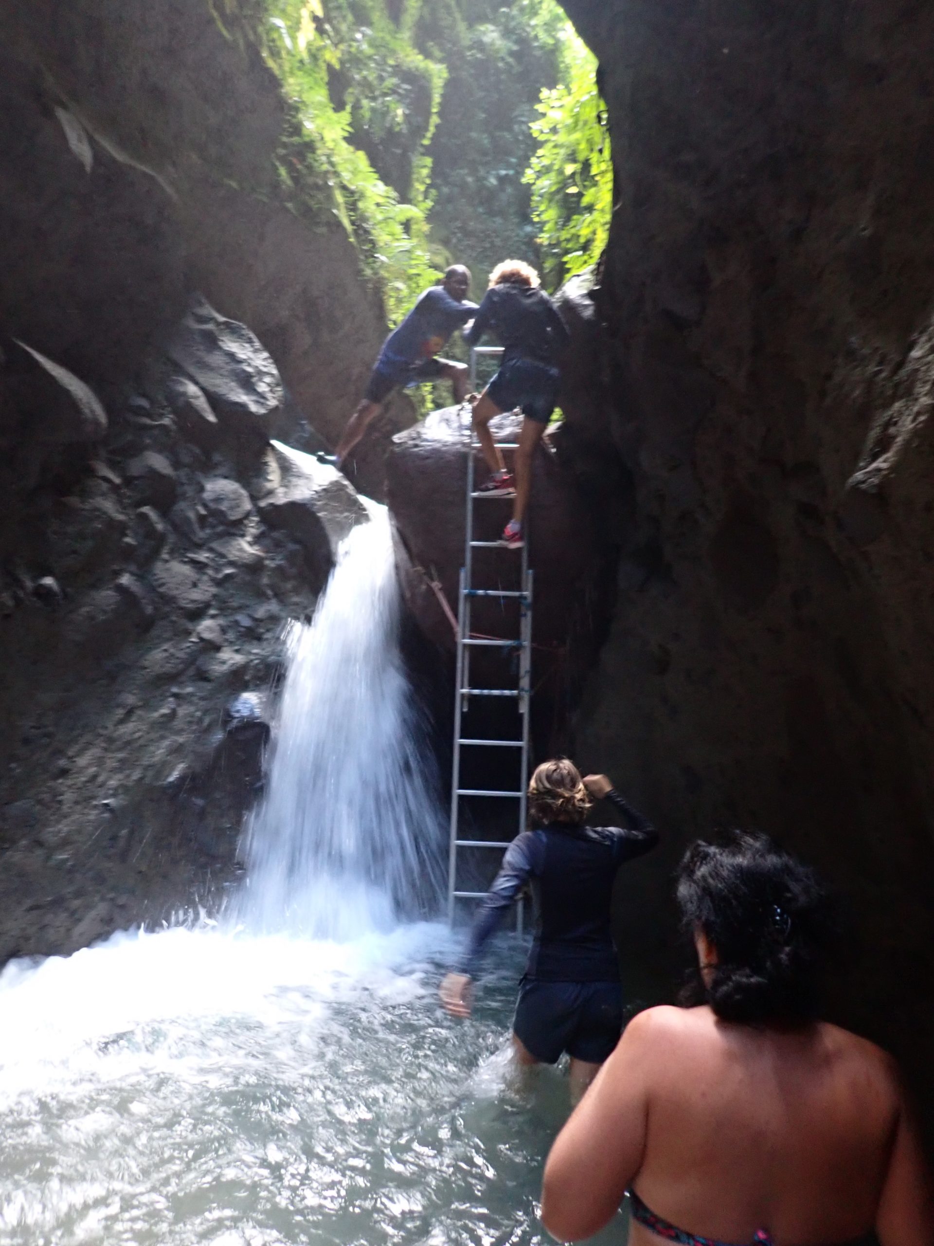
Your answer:
[[[364,400],[337,442],[336,466],[340,467],[360,441],[395,389],[446,378],[453,386],[455,402],[463,402],[469,384],[467,365],[441,359],[438,351],[455,329],[467,324],[477,310],[477,304],[467,300],[469,288],[469,269],[452,264],[441,285],[425,290],[402,324],[386,338]]]

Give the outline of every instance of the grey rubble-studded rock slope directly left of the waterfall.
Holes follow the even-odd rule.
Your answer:
[[[281,629],[310,616],[337,542],[369,517],[333,467],[255,429],[244,440],[257,374],[267,392],[281,381],[243,325],[202,316],[223,323],[198,355],[202,380],[224,376],[217,412],[176,358],[152,358],[147,392],[7,510],[0,961],[222,901],[262,791]],[[250,343],[239,379],[232,340]],[[179,394],[219,449],[178,417]]]

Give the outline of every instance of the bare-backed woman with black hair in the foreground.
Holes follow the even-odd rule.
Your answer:
[[[828,920],[813,872],[765,836],[696,844],[677,898],[696,1007],[626,1028],[552,1148],[542,1220],[589,1237],[629,1192],[629,1246],[659,1239],[934,1242],[932,1185],[894,1060],[818,1019]]]

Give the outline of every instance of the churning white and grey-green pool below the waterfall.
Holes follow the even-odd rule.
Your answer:
[[[9,966],[0,1241],[549,1241],[567,1080],[511,1082],[508,941],[469,1022],[438,1009],[450,939],[172,930]]]

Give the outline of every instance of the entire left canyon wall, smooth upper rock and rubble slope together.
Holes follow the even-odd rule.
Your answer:
[[[0,14],[0,961],[218,902],[281,625],[364,515],[268,446],[336,432],[385,319],[257,17]]]

